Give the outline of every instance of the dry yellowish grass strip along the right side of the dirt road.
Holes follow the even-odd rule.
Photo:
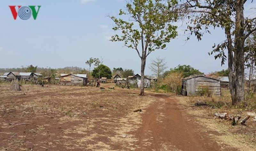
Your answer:
[[[228,113],[230,115],[240,115],[245,117],[247,112],[254,112],[251,107],[231,106],[230,94],[227,90],[222,92],[221,97],[211,96],[193,96],[193,97],[176,97],[187,107],[189,114],[196,117],[197,122],[206,127],[204,132],[214,131],[217,135],[211,135],[220,144],[227,144],[239,150],[256,150],[256,122],[250,118],[244,125],[232,126],[231,121],[216,119],[216,112]],[[253,100],[251,100],[253,102]],[[255,101],[255,100],[254,100]],[[196,102],[206,102],[210,107],[195,107]]]

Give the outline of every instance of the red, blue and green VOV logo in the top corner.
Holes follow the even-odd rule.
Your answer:
[[[12,12],[13,19],[16,20],[17,16],[19,15],[20,19],[28,20],[30,19],[31,15],[36,20],[38,12],[41,6],[18,6],[18,10],[16,10],[16,6],[9,6]]]

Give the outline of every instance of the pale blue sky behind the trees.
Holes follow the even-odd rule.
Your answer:
[[[125,0],[1,0],[0,2],[0,68],[28,66],[60,68],[78,66],[88,69],[85,61],[102,57],[103,64],[111,69],[122,67],[140,73],[140,58],[133,49],[122,42],[110,42],[116,34],[113,22],[107,15],[117,16],[124,9]],[[37,19],[13,19],[9,5],[41,5]],[[256,2],[246,8],[256,8]],[[247,9],[248,10],[248,9]],[[253,14],[255,9],[246,11]],[[179,23],[181,25],[181,23]],[[209,56],[213,43],[225,39],[224,32],[212,30],[203,40],[195,37],[185,42],[186,36],[179,27],[179,36],[148,56],[146,75],[151,75],[148,65],[157,56],[165,57],[168,68],[189,64],[201,72],[226,69],[220,60]]]

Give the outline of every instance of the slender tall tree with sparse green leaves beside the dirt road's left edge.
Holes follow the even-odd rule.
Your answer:
[[[171,25],[177,20],[176,13],[167,13],[177,0],[131,0],[126,10],[120,10],[119,16],[129,20],[109,16],[115,23],[112,28],[121,31],[111,41],[122,41],[128,48],[136,50],[141,60],[140,95],[144,95],[144,71],[148,55],[157,49],[166,49],[166,43],[175,38],[177,26]]]

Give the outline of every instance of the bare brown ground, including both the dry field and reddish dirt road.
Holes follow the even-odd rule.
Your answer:
[[[236,150],[214,130],[201,131],[200,115],[170,95],[110,85],[9,87],[0,87],[0,150]]]

